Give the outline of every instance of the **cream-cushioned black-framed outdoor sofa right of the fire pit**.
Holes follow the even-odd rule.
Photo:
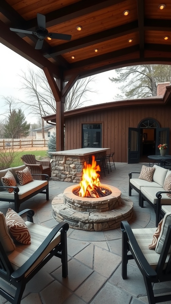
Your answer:
[[[155,209],[157,227],[161,216],[161,206],[171,205],[171,197],[167,195],[171,194],[171,192],[166,191],[163,188],[166,179],[171,174],[171,171],[158,165],[154,165],[149,168],[155,168],[151,182],[139,179],[138,176],[136,176],[136,178],[132,178],[132,174],[140,174],[140,172],[129,173],[129,196],[131,196],[131,190],[134,189],[139,194],[139,206],[141,208],[144,207],[144,201],[146,201]]]

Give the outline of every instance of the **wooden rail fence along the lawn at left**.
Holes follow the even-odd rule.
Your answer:
[[[47,139],[0,139],[0,147],[5,149],[5,147],[13,147],[21,149],[23,147],[47,147]]]

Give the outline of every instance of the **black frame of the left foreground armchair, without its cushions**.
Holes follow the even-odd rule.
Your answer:
[[[27,212],[27,220],[33,223],[34,211],[31,209],[25,209],[19,212],[19,215],[23,215]],[[68,275],[68,256],[67,256],[67,231],[69,225],[66,222],[61,222],[55,226],[49,235],[45,238],[40,247],[33,253],[33,255],[17,270],[13,270],[12,265],[8,259],[7,254],[4,251],[2,243],[0,242],[0,277],[5,280],[8,285],[13,285],[16,287],[15,295],[9,294],[6,289],[0,288],[0,295],[7,299],[12,304],[20,304],[21,298],[26,287],[26,283],[33,278],[34,275],[51,259],[51,257],[56,256],[61,259],[62,263],[62,277],[66,278]],[[46,250],[47,246],[51,243],[55,235],[60,230],[61,232],[61,242],[56,245],[49,254],[31,271],[26,277],[27,271],[34,265],[34,263],[39,259],[41,254]],[[7,286],[8,286],[7,285]],[[8,287],[7,287],[8,290]]]

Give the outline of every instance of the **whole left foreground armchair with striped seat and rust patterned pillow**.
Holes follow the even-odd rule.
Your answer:
[[[21,218],[24,213],[26,222]],[[8,209],[6,218],[0,212],[0,278],[3,280],[0,295],[12,304],[20,304],[26,283],[53,256],[61,259],[62,277],[68,275],[68,223],[61,222],[50,229],[33,223],[33,215],[31,209],[19,214]],[[9,231],[17,241],[13,242]]]

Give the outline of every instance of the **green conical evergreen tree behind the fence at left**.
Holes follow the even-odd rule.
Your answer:
[[[26,118],[21,109],[10,110],[7,122],[4,126],[5,138],[21,138],[26,137],[30,133],[30,123],[26,122]]]

